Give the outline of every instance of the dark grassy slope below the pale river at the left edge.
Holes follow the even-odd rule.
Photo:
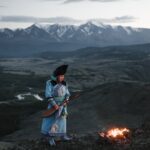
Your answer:
[[[20,127],[20,121],[27,116],[45,109],[46,103],[41,101],[21,101],[0,105],[0,137],[10,134]]]

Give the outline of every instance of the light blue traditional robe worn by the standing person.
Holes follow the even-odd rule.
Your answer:
[[[65,82],[57,84],[53,80],[46,82],[45,97],[49,101],[48,109],[54,105],[60,105],[64,100],[69,99],[70,92]],[[60,107],[58,111],[48,118],[43,118],[41,133],[48,136],[66,135],[67,107]]]

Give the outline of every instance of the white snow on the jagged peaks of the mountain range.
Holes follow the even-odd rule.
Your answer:
[[[82,33],[84,33],[85,35],[90,36],[90,35],[94,34],[94,32],[93,32],[94,28],[99,28],[99,30],[97,31],[98,34],[101,34],[104,30],[107,30],[110,28],[113,29],[114,31],[118,31],[119,27],[122,27],[122,29],[128,35],[131,35],[133,32],[141,31],[141,29],[139,29],[139,28],[131,28],[131,27],[123,27],[123,26],[110,26],[110,25],[106,25],[106,24],[103,24],[101,22],[94,21],[94,20],[88,21],[79,26],[61,25],[61,24],[34,24],[33,26],[44,30],[51,36],[55,36],[56,39],[57,39],[57,37],[62,38],[66,34],[67,34],[66,37],[72,38],[74,36],[74,33],[79,30]],[[25,31],[28,34],[31,32],[31,30],[32,30],[31,27],[25,29]],[[34,34],[36,35],[38,33],[34,33]],[[60,41],[59,38],[57,39],[58,41]]]

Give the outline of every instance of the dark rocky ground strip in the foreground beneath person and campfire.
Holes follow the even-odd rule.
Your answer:
[[[50,146],[43,138],[22,139],[15,142],[0,142],[1,150],[149,150],[150,149],[150,122],[140,128],[130,129],[128,141],[117,142],[106,140],[97,133],[72,135],[70,142],[58,141],[56,146]]]

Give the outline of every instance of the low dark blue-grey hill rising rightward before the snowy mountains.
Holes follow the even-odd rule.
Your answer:
[[[108,46],[108,47],[86,47],[70,52],[42,52],[37,57],[59,59],[75,57],[79,59],[125,59],[137,60],[147,58],[150,55],[150,43],[128,46]],[[81,60],[82,61],[82,60]]]

